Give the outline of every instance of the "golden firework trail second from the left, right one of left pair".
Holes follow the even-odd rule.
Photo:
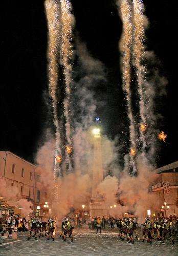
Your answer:
[[[72,129],[71,129],[71,110],[70,99],[71,89],[70,84],[72,80],[72,14],[70,12],[71,3],[69,0],[60,1],[61,9],[61,37],[60,37],[60,56],[61,64],[63,66],[64,82],[65,82],[65,99],[64,99],[64,116],[65,116],[65,131],[66,131],[66,150],[65,161],[68,164],[69,171],[72,169],[72,159],[68,148],[72,148]]]

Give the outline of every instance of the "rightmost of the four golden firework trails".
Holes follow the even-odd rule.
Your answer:
[[[139,105],[140,105],[140,140],[142,141],[142,148],[145,150],[147,144],[145,140],[145,134],[142,127],[147,123],[146,115],[146,99],[145,93],[146,89],[144,86],[146,68],[142,64],[145,55],[144,47],[144,15],[143,15],[143,3],[142,0],[133,0],[133,61],[136,67],[137,83],[138,83],[138,92],[140,96]],[[147,102],[149,103],[149,102]]]

